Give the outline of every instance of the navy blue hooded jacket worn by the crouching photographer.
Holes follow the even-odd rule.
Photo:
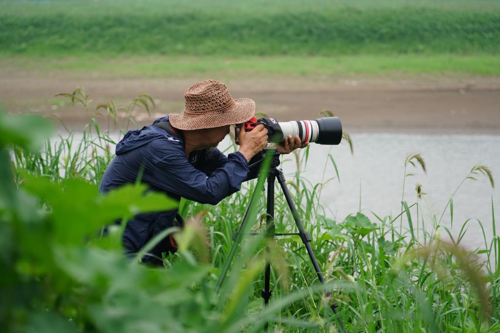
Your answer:
[[[152,124],[168,121],[168,116],[156,119]],[[239,153],[227,157],[217,148],[194,151],[189,158],[184,150],[183,135],[175,136],[165,129],[145,126],[140,130],[128,131],[116,145],[116,156],[107,167],[100,192],[105,193],[123,184],[140,182],[153,191],[163,192],[169,197],[180,197],[215,205],[220,200],[239,191],[241,182],[255,178],[258,164],[248,163]],[[139,251],[152,237],[171,227],[176,210],[138,214],[128,221],[123,233],[125,253]],[[167,251],[164,239],[151,251],[161,258]],[[156,263],[148,257],[146,261]]]

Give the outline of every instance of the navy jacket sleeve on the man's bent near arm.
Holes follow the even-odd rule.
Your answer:
[[[227,156],[227,161],[209,177],[193,167],[178,142],[154,140],[148,146],[151,168],[144,180],[151,185],[199,203],[215,205],[239,191],[248,176],[248,164],[240,153]]]

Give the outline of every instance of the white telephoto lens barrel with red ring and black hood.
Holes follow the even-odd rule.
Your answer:
[[[279,122],[279,127],[283,134],[281,140],[288,135],[298,135],[301,142],[337,145],[342,139],[342,124],[337,117]]]

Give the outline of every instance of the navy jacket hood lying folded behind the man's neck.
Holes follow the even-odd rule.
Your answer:
[[[155,121],[153,121],[151,125],[154,125],[161,121],[168,121],[168,116],[156,119]],[[181,140],[180,138],[172,136],[164,129],[154,127],[151,125],[144,126],[141,129],[134,129],[126,132],[123,138],[116,144],[115,154],[116,155],[124,154],[130,150],[141,147],[155,139],[162,137],[172,137],[175,138],[176,140]]]

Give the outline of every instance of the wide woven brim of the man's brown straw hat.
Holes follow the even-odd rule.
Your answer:
[[[199,115],[169,114],[168,120],[173,127],[192,131],[240,124],[248,121],[255,114],[255,102],[250,98],[234,99],[234,106],[221,112],[207,112]]]

